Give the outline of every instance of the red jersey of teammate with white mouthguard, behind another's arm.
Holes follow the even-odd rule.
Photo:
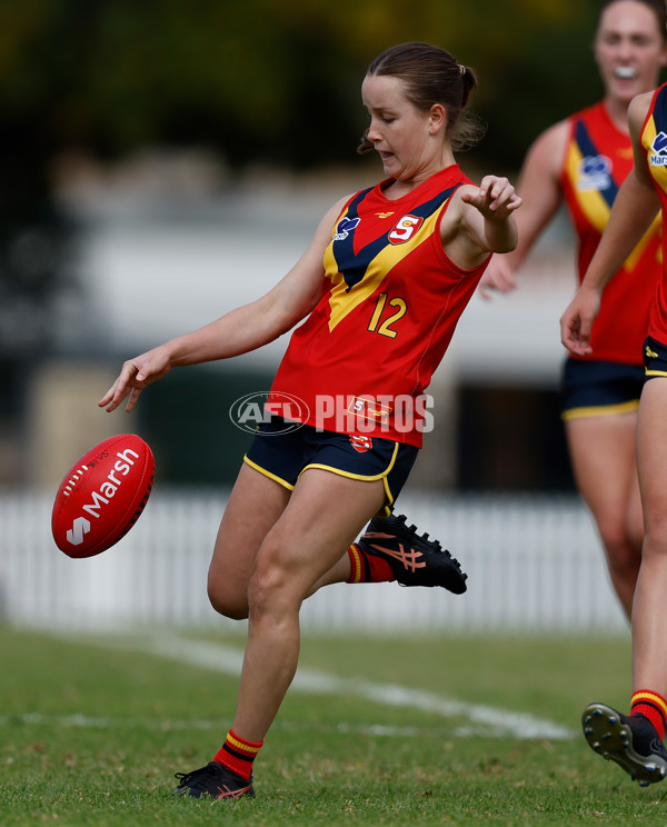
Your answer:
[[[604,103],[570,116],[561,186],[577,233],[583,280],[620,185],[633,169],[633,143]],[[586,359],[641,365],[641,345],[661,269],[661,221],[656,217],[625,266],[605,288]]]

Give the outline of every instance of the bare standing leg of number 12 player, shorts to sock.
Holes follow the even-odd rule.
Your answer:
[[[307,470],[260,548],[249,589],[249,635],[232,729],[260,741],[299,655],[299,610],[385,499],[379,481]]]

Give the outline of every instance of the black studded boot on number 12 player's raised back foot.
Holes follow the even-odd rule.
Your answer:
[[[438,540],[419,536],[416,526],[407,526],[404,515],[375,517],[357,540],[367,555],[382,557],[391,566],[395,579],[402,586],[441,586],[455,595],[468,588],[468,575],[459,561]]]

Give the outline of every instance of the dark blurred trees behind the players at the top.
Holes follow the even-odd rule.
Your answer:
[[[488,131],[465,167],[512,175],[541,129],[600,96],[598,11],[580,0],[3,0],[0,426],[20,421],[27,366],[49,350],[57,297],[76,289],[58,159],[197,147],[232,175],[352,166],[368,63],[426,40],[478,73]]]

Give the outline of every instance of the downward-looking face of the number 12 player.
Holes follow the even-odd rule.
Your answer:
[[[401,181],[430,175],[441,140],[431,140],[432,114],[406,98],[404,81],[367,76],[361,97],[370,116],[368,140],[378,151],[385,173]]]

